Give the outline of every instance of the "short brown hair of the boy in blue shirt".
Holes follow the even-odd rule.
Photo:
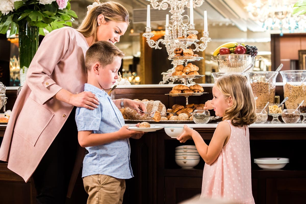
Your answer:
[[[90,70],[91,66],[99,62],[102,67],[112,64],[114,58],[119,56],[123,58],[125,55],[118,47],[114,46],[107,41],[98,41],[92,44],[85,55],[85,67],[86,70]]]

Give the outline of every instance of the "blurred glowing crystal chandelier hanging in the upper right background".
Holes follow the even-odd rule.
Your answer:
[[[252,20],[263,23],[263,28],[280,30],[283,35],[284,29],[289,33],[304,32],[306,29],[306,16],[293,16],[293,5],[297,0],[268,0],[249,3],[245,8]]]

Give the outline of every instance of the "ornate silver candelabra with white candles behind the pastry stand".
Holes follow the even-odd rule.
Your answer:
[[[207,43],[211,41],[211,38],[208,37],[209,32],[207,31],[207,12],[204,11],[204,31],[203,31],[203,37],[200,38],[200,44],[199,40],[193,40],[190,41],[190,43],[186,43],[183,41],[178,40],[178,37],[181,36],[187,36],[190,34],[198,34],[198,31],[195,30],[195,24],[193,23],[193,8],[200,7],[204,0],[162,0],[162,2],[159,2],[159,0],[147,0],[151,2],[151,5],[154,9],[162,9],[166,10],[168,6],[170,6],[170,13],[172,16],[170,16],[170,20],[172,22],[169,23],[169,15],[166,15],[166,32],[164,35],[164,39],[159,39],[158,41],[154,41],[151,38],[154,36],[154,34],[151,32],[151,24],[150,24],[150,5],[147,5],[147,27],[146,32],[143,34],[143,36],[147,39],[147,43],[151,48],[155,49],[162,49],[162,47],[159,46],[159,44],[163,44],[166,47],[167,53],[169,58],[173,57],[174,49],[175,48],[182,48],[187,49],[188,46],[191,44],[195,45],[195,49],[193,51],[204,51],[207,47]],[[187,8],[190,9],[190,16],[181,14],[184,12],[185,5]],[[183,21],[187,20],[187,23],[184,23]],[[192,40],[192,39],[190,39]],[[200,57],[198,60],[203,59],[203,57]],[[173,68],[169,69],[167,72],[163,72],[163,81],[160,82],[160,84],[164,84],[166,82],[169,82],[171,80],[173,83],[176,79],[171,77],[171,74],[174,72],[175,67],[178,64],[187,64],[187,61],[184,60],[174,60],[171,64],[174,65]]]

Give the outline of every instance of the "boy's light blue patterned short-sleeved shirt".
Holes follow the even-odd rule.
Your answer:
[[[99,99],[95,110],[76,108],[78,131],[92,130],[93,133],[112,133],[125,125],[121,112],[108,94],[91,84],[85,84],[84,91],[90,91]],[[83,160],[82,177],[103,174],[119,179],[133,177],[130,162],[129,139],[116,140],[103,145],[87,147]]]

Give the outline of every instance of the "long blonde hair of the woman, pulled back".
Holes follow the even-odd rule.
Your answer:
[[[97,39],[97,28],[98,22],[97,18],[100,14],[103,14],[106,22],[126,22],[129,25],[129,12],[123,7],[123,5],[117,2],[105,2],[101,3],[94,8],[92,8],[88,15],[82,20],[82,23],[76,29],[84,35],[85,38],[93,36],[94,42]]]

